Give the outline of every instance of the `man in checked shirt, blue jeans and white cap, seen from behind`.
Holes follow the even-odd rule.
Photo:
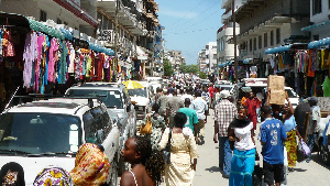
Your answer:
[[[232,152],[228,139],[228,127],[238,114],[237,107],[228,100],[230,94],[222,90],[222,100],[215,107],[215,143],[219,140],[219,167],[223,177],[229,178]]]

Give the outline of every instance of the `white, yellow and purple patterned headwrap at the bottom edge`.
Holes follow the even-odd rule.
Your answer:
[[[73,179],[68,172],[61,167],[50,166],[37,174],[33,186],[73,186]]]

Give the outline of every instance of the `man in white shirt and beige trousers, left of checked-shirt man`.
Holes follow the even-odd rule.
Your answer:
[[[198,118],[198,124],[196,130],[197,141],[204,144],[205,122],[207,122],[208,105],[201,98],[201,91],[196,92],[196,99],[191,102],[190,108],[196,111]]]

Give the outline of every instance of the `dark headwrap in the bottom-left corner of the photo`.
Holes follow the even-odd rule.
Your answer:
[[[4,164],[0,169],[0,185],[25,186],[23,167],[15,162]]]

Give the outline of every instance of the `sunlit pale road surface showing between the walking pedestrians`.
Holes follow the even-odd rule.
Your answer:
[[[206,143],[198,146],[199,158],[194,179],[196,186],[220,186],[228,185],[228,179],[222,178],[218,167],[218,144],[213,143],[213,112],[208,117],[206,124]],[[258,131],[257,131],[258,132]],[[261,144],[256,141],[257,151],[261,152]],[[262,158],[262,156],[261,156]],[[288,186],[330,186],[330,167],[326,166],[317,153],[312,153],[310,163],[297,163],[296,168],[287,175]]]

